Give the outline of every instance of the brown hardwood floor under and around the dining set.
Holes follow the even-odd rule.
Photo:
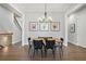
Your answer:
[[[59,50],[53,57],[51,50],[47,57],[41,57],[40,51],[33,57],[33,52],[28,54],[27,46],[10,46],[0,50],[0,61],[86,61],[86,49],[69,43],[63,48],[63,55],[60,57]]]

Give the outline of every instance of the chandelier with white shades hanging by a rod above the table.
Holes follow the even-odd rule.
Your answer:
[[[45,3],[45,14],[38,18],[39,22],[52,22],[51,16],[48,16],[47,4]]]

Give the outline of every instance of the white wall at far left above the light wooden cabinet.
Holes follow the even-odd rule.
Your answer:
[[[0,5],[0,15],[1,15],[0,16],[0,30],[1,31],[11,30],[11,27],[12,27],[12,23],[11,23],[12,22],[12,13]]]

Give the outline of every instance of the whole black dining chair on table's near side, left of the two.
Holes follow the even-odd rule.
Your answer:
[[[42,47],[44,47],[42,40],[33,40],[33,44],[34,44],[34,54],[33,54],[33,56],[35,55],[36,51],[38,53],[38,50],[41,51],[41,56],[42,56]]]

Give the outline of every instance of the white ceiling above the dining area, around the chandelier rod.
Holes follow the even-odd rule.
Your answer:
[[[45,11],[45,3],[13,3],[13,5],[24,13]],[[47,3],[46,5],[48,12],[66,12],[77,3]]]

